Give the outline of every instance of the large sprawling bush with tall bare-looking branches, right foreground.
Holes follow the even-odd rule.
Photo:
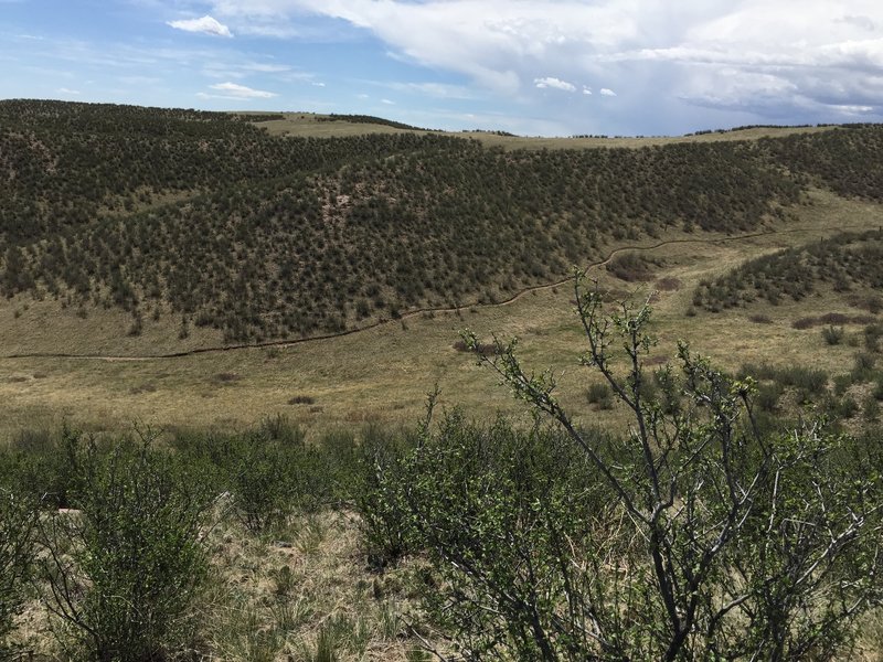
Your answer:
[[[498,343],[479,361],[558,433],[455,416],[374,468],[366,521],[397,527],[390,553],[432,562],[430,620],[476,660],[839,654],[881,598],[879,457],[821,425],[762,434],[755,383],[685,346],[648,389],[649,308],[606,314],[578,280],[576,296],[582,362],[630,413],[628,436],[581,429],[553,376]]]

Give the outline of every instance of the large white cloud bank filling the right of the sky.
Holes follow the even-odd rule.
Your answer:
[[[208,1],[237,31],[240,23],[290,30],[317,18],[332,20],[329,31],[349,24],[397,58],[545,104],[558,121],[572,111],[525,88],[628,81],[617,121],[648,121],[649,130],[690,130],[696,118],[745,122],[746,113],[827,121],[859,109],[883,118],[880,0]],[[550,71],[573,89],[544,77]]]

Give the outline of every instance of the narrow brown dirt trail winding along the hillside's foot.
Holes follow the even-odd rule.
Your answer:
[[[842,232],[847,229],[870,229],[866,224],[862,225],[840,225],[837,228],[831,228],[834,232]],[[752,239],[756,237],[765,237],[770,235],[786,235],[786,234],[800,234],[800,233],[818,233],[821,235],[828,234],[828,231],[818,227],[792,227],[788,229],[766,229],[763,232],[755,232],[751,234],[744,235],[735,235],[728,237],[716,237],[716,238],[696,238],[696,239],[668,239],[666,242],[659,242],[657,244],[652,244],[649,246],[620,246],[619,248],[614,248],[610,250],[606,257],[599,259],[597,261],[589,263],[586,265],[585,270],[588,271],[589,269],[596,269],[598,267],[603,267],[607,263],[609,263],[614,257],[619,255],[620,253],[627,252],[648,252],[648,250],[656,250],[657,248],[662,248],[663,246],[672,246],[675,244],[723,244],[730,242],[744,242],[746,239]],[[304,344],[308,342],[319,342],[322,340],[333,340],[336,338],[343,338],[347,335],[353,335],[355,333],[363,333],[365,331],[370,331],[372,329],[376,329],[379,327],[383,327],[384,324],[392,324],[392,323],[400,323],[402,320],[407,320],[411,318],[415,318],[417,316],[426,314],[426,313],[445,313],[445,312],[458,312],[461,310],[466,310],[469,308],[501,308],[503,306],[511,306],[522,297],[526,295],[540,290],[551,289],[553,287],[558,287],[564,285],[565,282],[570,282],[573,280],[573,276],[567,276],[566,278],[562,278],[561,280],[556,280],[554,282],[545,282],[543,285],[534,285],[529,288],[525,288],[509,299],[503,301],[498,301],[496,303],[470,303],[467,306],[458,306],[458,307],[449,307],[449,308],[418,308],[415,310],[411,310],[398,318],[394,319],[382,319],[364,327],[358,327],[354,329],[348,329],[345,331],[340,331],[338,333],[327,333],[323,335],[310,335],[309,338],[295,338],[288,340],[272,340],[267,342],[258,342],[258,343],[245,343],[245,344],[233,344],[233,345],[221,345],[221,346],[211,346],[211,348],[199,348],[195,350],[187,350],[183,352],[172,352],[169,354],[66,354],[66,353],[54,353],[54,352],[33,352],[33,353],[18,353],[18,354],[6,354],[0,356],[0,359],[89,359],[89,360],[97,360],[97,361],[118,361],[118,362],[126,362],[126,361],[152,361],[157,359],[183,359],[187,356],[195,356],[198,354],[214,354],[221,352],[235,352],[241,350],[256,350],[262,348],[281,348],[281,346],[292,346],[298,344]]]

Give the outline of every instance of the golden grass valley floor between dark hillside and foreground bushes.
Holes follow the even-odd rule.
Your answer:
[[[701,278],[723,274],[763,253],[847,227],[877,227],[880,213],[879,205],[817,192],[812,205],[801,207],[798,221],[778,226],[787,231],[783,234],[740,241],[719,237],[722,241],[716,243],[709,243],[708,235],[699,234],[667,237],[690,243],[653,250],[664,260],[655,278],[674,278],[681,284],[677,290],[660,291],[653,303],[653,328],[660,339],[655,356],[673,357],[677,340],[684,339],[725,367],[767,361],[845,372],[852,364],[853,348],[828,346],[818,329],[798,331],[790,325],[807,314],[849,311],[845,300],[833,292],[778,307],[757,303],[749,310],[700,312],[696,317],[684,313]],[[598,269],[592,273],[603,275]],[[640,290],[638,295],[653,287],[652,282],[635,287],[604,278],[606,286]],[[621,412],[596,412],[586,403],[585,389],[594,376],[576,364],[583,345],[572,313],[572,298],[571,287],[561,285],[529,292],[511,305],[474,307],[433,317],[417,314],[338,339],[272,349],[127,361],[0,359],[4,414],[0,435],[22,427],[52,427],[62,419],[87,429],[127,429],[136,421],[160,427],[236,428],[276,414],[299,423],[310,435],[371,421],[412,425],[422,415],[425,394],[435,383],[442,388],[440,403],[445,407],[462,405],[478,418],[504,412],[526,420],[523,407],[497,385],[490,371],[476,366],[469,354],[454,348],[465,328],[485,338],[491,333],[502,338],[518,335],[525,364],[550,366],[560,373],[561,397],[565,405],[582,413],[584,423],[620,420]],[[14,300],[0,305],[4,353],[29,348],[157,353],[179,346],[171,324],[164,331],[146,324],[143,337],[130,339],[125,331],[119,333],[123,321],[115,322],[117,313],[110,311],[79,320],[67,311],[53,317],[50,302],[32,303],[15,320],[12,308],[21,305]],[[757,312],[767,314],[773,323],[751,323],[748,316]],[[188,344],[199,346],[211,341],[208,333],[192,337]],[[289,404],[298,398],[313,402]]]

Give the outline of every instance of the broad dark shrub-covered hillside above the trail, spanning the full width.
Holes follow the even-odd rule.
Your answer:
[[[231,341],[310,335],[492,301],[669,228],[751,231],[810,181],[883,191],[877,127],[504,152],[438,135],[273,138],[246,119],[0,103],[2,292],[119,307],[132,333],[171,311],[182,332]],[[840,161],[863,163],[860,180]]]

